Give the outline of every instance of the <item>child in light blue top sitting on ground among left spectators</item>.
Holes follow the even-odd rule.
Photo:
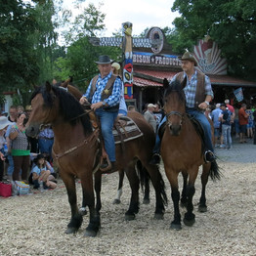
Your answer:
[[[42,154],[38,154],[35,158],[35,165],[32,168],[31,175],[34,189],[38,189],[40,187],[41,181],[43,181],[45,190],[54,190],[57,187],[57,184],[53,182],[55,178],[51,175],[51,171],[47,169],[46,161]]]

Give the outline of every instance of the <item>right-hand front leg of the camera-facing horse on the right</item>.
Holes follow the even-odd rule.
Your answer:
[[[187,186],[188,205],[187,205],[187,212],[185,213],[184,220],[183,220],[186,226],[192,226],[195,222],[195,215],[192,213],[193,211],[192,197],[195,192],[194,182],[197,177],[197,173],[198,173],[198,167],[196,166],[193,167],[191,171],[189,170],[190,180]]]

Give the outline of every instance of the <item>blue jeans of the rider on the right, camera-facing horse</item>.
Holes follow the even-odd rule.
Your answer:
[[[204,132],[204,143],[205,143],[205,149],[211,150],[212,152],[212,141],[211,141],[211,125],[207,119],[207,117],[204,115],[204,113],[197,111],[194,108],[186,108],[187,113],[191,114],[194,119],[196,119],[202,126],[203,132]],[[160,122],[158,126],[158,130],[161,127],[161,125],[166,121],[166,116],[163,117],[162,121]],[[156,138],[155,138],[155,145],[153,148],[153,152],[159,152],[160,151],[160,145],[161,141],[158,135],[158,130],[156,132]]]

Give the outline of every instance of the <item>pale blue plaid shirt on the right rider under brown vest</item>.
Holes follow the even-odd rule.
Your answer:
[[[184,77],[187,76],[187,85],[184,88],[184,92],[186,95],[186,107],[194,107],[194,98],[195,98],[195,93],[196,93],[196,84],[197,84],[197,71],[192,74],[192,79],[191,81],[189,80],[186,72],[184,72]],[[176,79],[176,75],[172,78],[171,81],[174,81]],[[213,91],[212,91],[212,86],[210,79],[207,75],[205,75],[205,96],[210,95],[213,99]],[[198,103],[200,104],[200,103]]]

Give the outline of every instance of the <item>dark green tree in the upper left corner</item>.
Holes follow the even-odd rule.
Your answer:
[[[0,87],[13,90],[36,79],[39,67],[30,35],[36,29],[33,8],[21,0],[0,5]]]

